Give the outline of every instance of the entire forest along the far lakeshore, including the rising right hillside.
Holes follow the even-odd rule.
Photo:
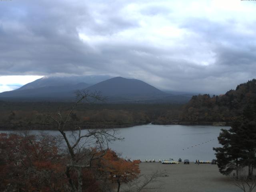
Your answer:
[[[246,106],[256,103],[256,80],[240,84],[223,95],[192,96],[185,104],[170,103],[82,103],[72,118],[82,128],[118,128],[141,124],[214,124],[230,125]],[[0,101],[1,129],[52,129],[45,114],[65,114],[71,102]]]

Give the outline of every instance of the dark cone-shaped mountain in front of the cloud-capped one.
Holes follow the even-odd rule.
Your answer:
[[[86,88],[90,92],[99,91],[108,102],[140,103],[186,103],[192,95],[168,94],[141,80],[122,77],[111,78]]]

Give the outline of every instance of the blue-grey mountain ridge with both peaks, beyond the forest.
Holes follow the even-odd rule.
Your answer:
[[[2,100],[74,101],[76,90],[100,92],[107,102],[184,102],[190,98],[167,94],[141,80],[107,76],[40,78],[13,91],[0,93]],[[87,81],[87,82],[86,82]],[[96,82],[95,84],[89,84]]]

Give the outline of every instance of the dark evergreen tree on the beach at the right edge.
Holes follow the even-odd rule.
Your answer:
[[[228,175],[238,169],[248,167],[248,177],[256,167],[256,102],[251,102],[243,110],[229,130],[222,129],[218,137],[222,147],[213,148],[220,173]]]

